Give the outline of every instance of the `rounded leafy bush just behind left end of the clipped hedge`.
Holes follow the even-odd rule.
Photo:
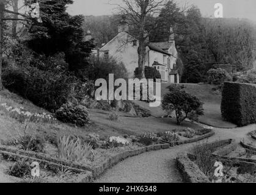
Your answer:
[[[210,69],[208,72],[208,82],[214,85],[220,85],[225,81],[232,80],[231,76],[225,69],[218,68],[218,69]]]

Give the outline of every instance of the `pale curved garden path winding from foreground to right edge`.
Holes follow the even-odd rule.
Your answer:
[[[233,138],[240,141],[241,138],[252,130],[256,124],[235,128],[216,129],[216,135],[208,141],[225,140]],[[201,142],[205,142],[203,140]],[[179,152],[187,151],[195,143],[171,147],[161,151],[145,152],[144,154],[128,158],[106,171],[97,183],[177,183],[182,182],[180,173],[175,166],[175,158]]]

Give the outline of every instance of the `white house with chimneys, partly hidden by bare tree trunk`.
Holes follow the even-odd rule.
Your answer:
[[[119,33],[100,49],[99,55],[108,59],[114,57],[125,65],[128,76],[134,77],[134,70],[138,66],[137,48],[139,41],[128,34],[128,24],[125,20],[120,22]],[[172,29],[170,29],[172,31]],[[148,43],[145,66],[156,68],[161,73],[162,82],[179,83],[180,77],[176,69],[177,50],[175,48],[174,33],[169,41]]]

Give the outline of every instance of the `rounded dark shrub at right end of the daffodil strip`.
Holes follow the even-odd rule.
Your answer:
[[[89,123],[89,112],[83,105],[64,104],[56,111],[56,118],[62,122],[70,122],[78,127]]]

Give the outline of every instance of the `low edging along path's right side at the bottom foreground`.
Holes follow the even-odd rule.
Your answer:
[[[208,177],[203,174],[196,163],[188,158],[187,154],[178,155],[176,164],[185,182],[210,183]]]

